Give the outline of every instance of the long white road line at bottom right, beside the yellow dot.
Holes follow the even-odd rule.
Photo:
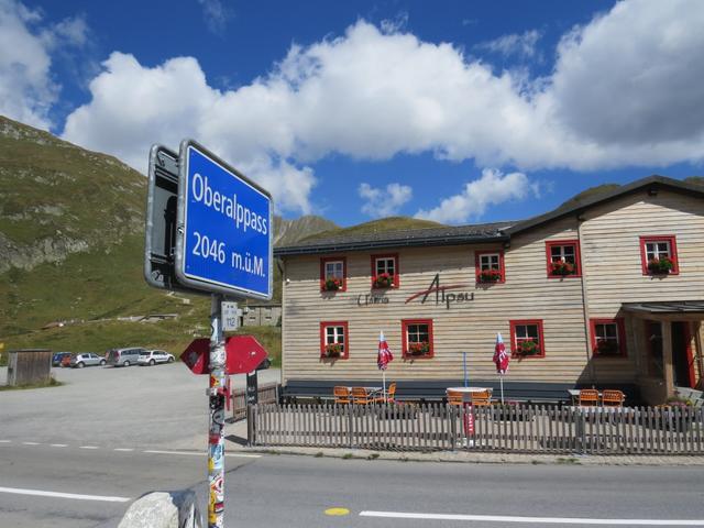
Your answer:
[[[404,512],[361,512],[360,517],[476,520],[481,522],[526,522],[539,525],[704,526],[704,519],[593,519],[579,517],[518,517],[510,515],[411,514]]]

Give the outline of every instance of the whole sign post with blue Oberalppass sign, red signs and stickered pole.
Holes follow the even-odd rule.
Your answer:
[[[251,336],[228,338],[233,351],[226,350],[223,330],[237,328],[239,311],[231,302],[223,318],[222,301],[226,295],[272,298],[274,204],[266,189],[195,141],[184,140],[178,155],[152,147],[146,209],[146,282],[156,288],[212,294],[209,354],[207,340],[196,340],[184,361],[194,372],[210,375],[208,526],[222,528],[226,363],[231,373],[244,373],[266,358]]]

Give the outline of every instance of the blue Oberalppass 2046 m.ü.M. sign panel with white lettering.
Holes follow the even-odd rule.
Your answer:
[[[191,288],[272,298],[271,195],[194,141],[180,145],[176,275]]]

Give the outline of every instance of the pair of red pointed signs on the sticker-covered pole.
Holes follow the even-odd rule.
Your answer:
[[[246,374],[268,358],[264,346],[253,336],[232,336],[224,340],[226,373]],[[194,374],[210,374],[210,340],[194,340],[180,356]]]

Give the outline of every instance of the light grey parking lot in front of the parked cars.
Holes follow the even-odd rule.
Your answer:
[[[183,363],[52,372],[65,385],[0,392],[0,439],[206,449],[208,377],[191,374]],[[1,367],[0,384],[6,377]],[[260,384],[279,380],[279,370],[258,371]],[[232,376],[232,384],[245,386],[245,376]]]

